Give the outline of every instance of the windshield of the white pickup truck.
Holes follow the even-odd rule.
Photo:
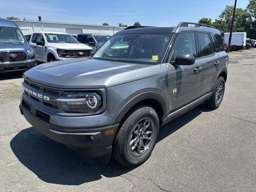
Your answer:
[[[70,34],[45,33],[44,35],[49,43],[79,43]]]

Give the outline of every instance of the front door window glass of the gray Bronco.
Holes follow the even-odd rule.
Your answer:
[[[180,53],[191,53],[196,58],[196,41],[194,33],[181,34],[173,48],[171,61],[174,61]]]

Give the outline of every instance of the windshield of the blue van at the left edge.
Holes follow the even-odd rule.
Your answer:
[[[24,43],[21,31],[16,27],[0,27],[0,43]]]

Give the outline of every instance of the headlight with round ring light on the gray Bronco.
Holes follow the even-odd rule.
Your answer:
[[[102,98],[96,92],[64,92],[52,101],[66,112],[94,113],[102,106]]]

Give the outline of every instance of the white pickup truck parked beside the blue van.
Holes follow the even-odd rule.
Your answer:
[[[92,48],[79,43],[72,35],[60,32],[34,32],[30,38],[36,60],[52,62],[88,57]]]

